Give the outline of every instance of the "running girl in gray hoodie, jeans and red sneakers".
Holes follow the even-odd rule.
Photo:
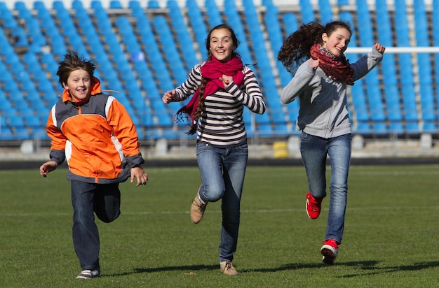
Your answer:
[[[350,64],[344,56],[352,31],[349,24],[333,21],[302,24],[283,41],[278,60],[290,71],[299,66],[282,89],[282,103],[299,99],[297,130],[302,131],[300,152],[308,177],[306,213],[320,215],[326,196],[326,158],[330,158],[330,208],[323,246],[323,262],[334,264],[342,243],[344,215],[351,163],[351,120],[346,85],[362,78],[383,57],[384,46],[375,43],[372,52]]]

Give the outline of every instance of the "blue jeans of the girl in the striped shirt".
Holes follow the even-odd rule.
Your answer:
[[[238,244],[241,194],[247,167],[247,144],[216,148],[197,143],[196,158],[201,173],[200,198],[215,202],[222,199],[222,229],[219,261],[232,261]]]

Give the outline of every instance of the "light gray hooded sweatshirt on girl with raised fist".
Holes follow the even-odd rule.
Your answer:
[[[383,55],[372,48],[372,52],[351,64],[353,81],[366,75],[382,58]],[[299,97],[297,131],[322,138],[351,133],[346,82],[334,80],[319,67],[313,69],[309,66],[310,61],[308,59],[299,66],[295,76],[281,92],[282,103],[290,103]]]

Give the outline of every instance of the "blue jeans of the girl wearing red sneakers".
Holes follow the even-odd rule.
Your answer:
[[[326,139],[302,131],[300,152],[308,176],[309,192],[316,199],[326,196],[327,155],[330,158],[330,208],[325,240],[334,239],[342,243],[351,164],[351,134]]]

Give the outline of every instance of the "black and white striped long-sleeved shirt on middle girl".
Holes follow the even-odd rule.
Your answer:
[[[184,101],[201,84],[201,66],[196,64],[182,85],[175,88],[173,101]],[[197,142],[208,143],[213,147],[236,147],[247,142],[243,121],[243,110],[263,114],[265,102],[255,73],[243,66],[244,81],[238,87],[234,82],[224,89],[205,97],[205,106],[198,122]]]

